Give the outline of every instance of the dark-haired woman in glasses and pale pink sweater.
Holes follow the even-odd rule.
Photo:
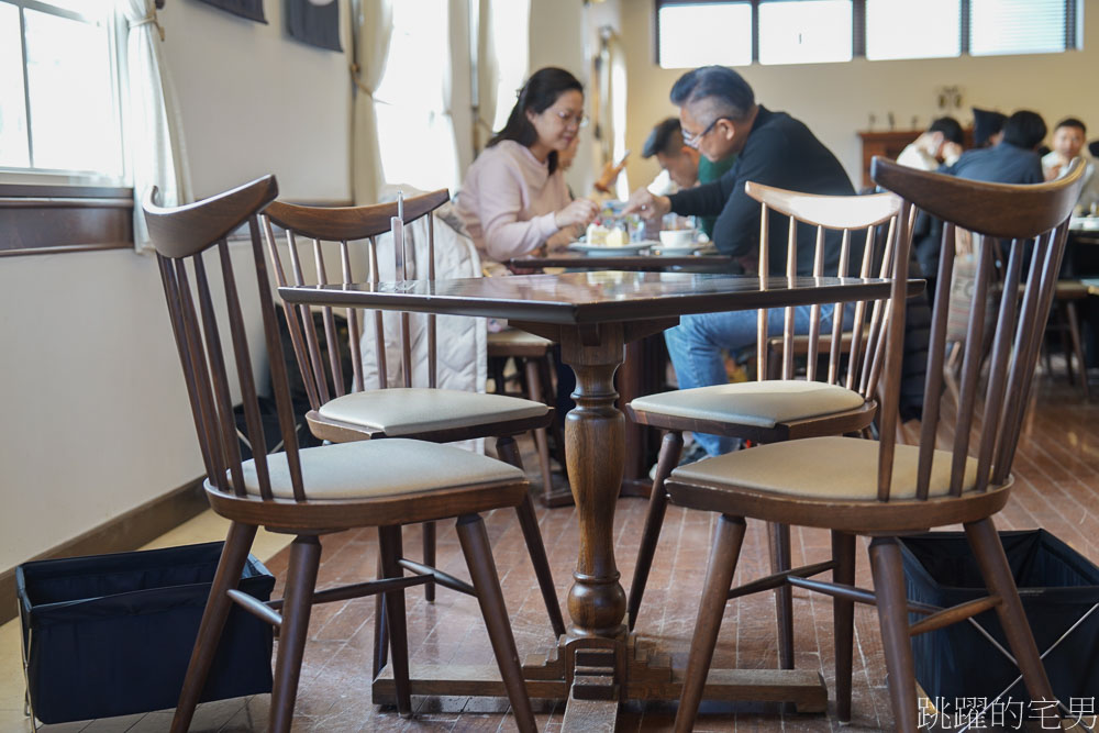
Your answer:
[[[559,230],[587,226],[598,206],[571,200],[558,166],[584,122],[584,87],[564,69],[535,71],[519,92],[503,130],[466,173],[458,215],[486,273],[542,246]]]

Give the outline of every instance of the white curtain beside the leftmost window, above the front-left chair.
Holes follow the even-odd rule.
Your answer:
[[[149,247],[141,209],[146,192],[156,186],[162,206],[188,203],[193,196],[179,104],[164,63],[160,47],[164,29],[157,22],[154,0],[120,0],[119,9],[129,27],[125,62],[130,119],[126,127],[136,204],[134,245],[141,252]]]

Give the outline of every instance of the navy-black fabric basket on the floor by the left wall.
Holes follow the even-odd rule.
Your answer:
[[[23,658],[43,723],[174,708],[224,543],[15,568]],[[269,600],[255,557],[240,589]],[[233,604],[202,700],[270,692],[273,631]]]

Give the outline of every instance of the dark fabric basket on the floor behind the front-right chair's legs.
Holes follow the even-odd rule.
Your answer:
[[[1099,697],[1099,610],[1059,644],[1057,640],[1099,603],[1099,568],[1045,530],[1001,532],[1008,564],[1057,699]],[[901,540],[910,600],[940,607],[988,595],[963,532],[932,532]],[[911,614],[912,620],[923,618]],[[995,610],[974,620],[1009,649]],[[1019,669],[968,622],[912,637],[915,678],[934,701],[999,696]],[[1029,701],[1020,680],[1001,700]],[[1039,701],[1034,701],[1037,706]]]

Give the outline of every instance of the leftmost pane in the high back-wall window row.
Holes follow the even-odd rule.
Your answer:
[[[665,5],[657,13],[659,62],[666,69],[752,63],[752,3]]]

